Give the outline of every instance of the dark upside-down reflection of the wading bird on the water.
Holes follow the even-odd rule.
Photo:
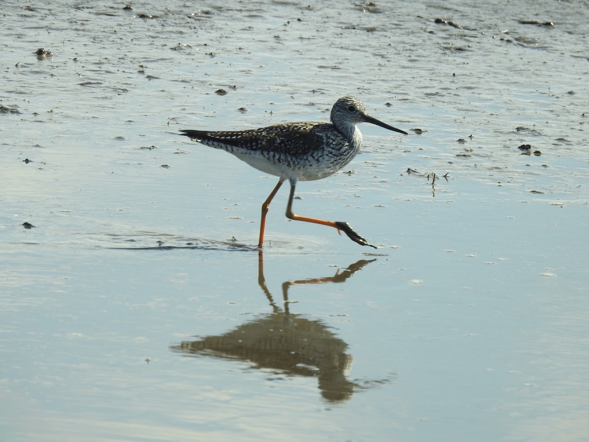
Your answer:
[[[325,278],[284,282],[284,307],[281,309],[267,288],[260,250],[258,283],[272,306],[272,314],[261,315],[226,334],[181,342],[170,349],[195,356],[250,361],[256,364],[255,368],[279,370],[291,376],[315,376],[319,380],[319,390],[325,400],[346,401],[352,396],[355,388],[366,388],[366,384],[359,385],[347,378],[352,367],[352,355],[346,353],[348,344],[337,338],[332,328],[319,319],[291,314],[288,291],[294,285],[345,282],[355,272],[375,260],[361,259],[346,269],[338,269],[335,275]]]

